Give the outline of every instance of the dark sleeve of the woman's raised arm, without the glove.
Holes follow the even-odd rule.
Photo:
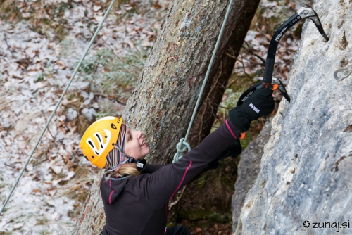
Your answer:
[[[139,189],[149,204],[160,209],[177,191],[196,177],[208,163],[215,160],[239,136],[239,129],[230,120],[220,125],[178,163],[165,165],[153,174],[136,177]]]

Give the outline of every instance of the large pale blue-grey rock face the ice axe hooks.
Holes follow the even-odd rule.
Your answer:
[[[352,70],[352,2],[313,8],[330,40],[306,21],[287,85],[291,103],[282,100],[272,120],[234,234],[352,234],[352,75],[334,78]]]

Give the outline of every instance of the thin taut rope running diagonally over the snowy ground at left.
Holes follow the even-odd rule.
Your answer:
[[[83,54],[83,56],[82,56],[80,62],[78,63],[77,67],[75,68],[75,71],[73,72],[73,75],[71,76],[70,81],[68,82],[67,86],[65,87],[65,90],[63,91],[63,94],[61,95],[60,99],[58,100],[58,103],[56,104],[56,107],[55,107],[53,113],[51,113],[48,122],[46,122],[46,125],[45,125],[45,127],[44,127],[44,129],[43,129],[43,131],[42,131],[42,134],[40,134],[39,139],[37,140],[37,143],[35,144],[34,148],[32,149],[32,152],[30,153],[30,156],[27,158],[27,161],[26,161],[26,163],[25,163],[25,166],[22,168],[22,170],[21,170],[21,172],[20,172],[20,175],[17,177],[15,184],[13,184],[13,187],[12,187],[12,189],[11,189],[10,194],[8,194],[8,197],[6,198],[6,201],[5,201],[4,205],[2,206],[2,208],[1,208],[1,210],[0,210],[0,215],[1,215],[1,213],[4,211],[4,208],[5,208],[5,206],[6,206],[6,203],[8,202],[8,199],[10,199],[11,194],[13,193],[13,190],[15,189],[15,187],[16,187],[17,184],[18,184],[18,182],[20,181],[20,177],[22,176],[23,172],[25,171],[25,167],[27,167],[28,163],[30,163],[30,159],[32,158],[32,155],[33,155],[35,149],[37,148],[37,146],[38,146],[40,140],[42,139],[42,136],[44,135],[44,132],[45,132],[46,129],[48,128],[49,123],[51,122],[51,119],[54,117],[54,115],[55,115],[55,113],[56,113],[56,110],[58,109],[58,106],[60,105],[61,101],[63,100],[63,96],[65,96],[66,91],[68,90],[68,87],[70,87],[70,84],[71,84],[71,82],[73,81],[73,77],[75,77],[75,75],[76,75],[76,73],[77,73],[77,71],[78,71],[78,68],[80,68],[80,65],[82,64],[82,62],[83,62],[85,56],[87,55],[87,53],[88,53],[90,47],[92,46],[92,44],[93,44],[93,42],[94,42],[94,39],[96,38],[96,35],[98,35],[99,30],[101,29],[101,26],[103,25],[103,23],[104,23],[106,17],[108,16],[108,13],[110,12],[110,10],[111,10],[111,8],[113,7],[113,4],[114,4],[114,3],[115,3],[115,0],[112,0],[110,6],[108,7],[108,10],[106,11],[106,13],[105,13],[105,15],[104,15],[104,17],[103,17],[103,20],[101,20],[101,23],[99,24],[99,27],[96,29],[96,31],[95,31],[95,33],[94,33],[92,39],[91,39],[90,42],[89,42],[89,45],[87,46],[87,49],[84,51],[84,54]]]

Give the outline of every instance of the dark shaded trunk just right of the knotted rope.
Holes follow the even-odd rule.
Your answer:
[[[191,128],[191,133],[189,134],[189,144],[191,146],[199,144],[210,133],[210,129],[213,127],[218,106],[225,92],[227,81],[232,74],[234,63],[236,62],[235,58],[239,56],[239,51],[251,26],[251,21],[256,13],[259,2],[260,0],[234,2],[237,8],[241,10],[237,11],[236,18],[232,18],[235,21],[235,25],[233,25],[230,37],[224,46],[222,56],[216,67],[217,69],[211,74],[212,79],[208,82],[208,86],[204,91],[201,100],[202,105],[199,107]]]

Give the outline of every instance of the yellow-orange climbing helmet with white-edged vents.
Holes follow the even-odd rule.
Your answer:
[[[104,117],[93,122],[82,136],[80,148],[93,165],[105,167],[106,156],[118,141],[122,118]]]

